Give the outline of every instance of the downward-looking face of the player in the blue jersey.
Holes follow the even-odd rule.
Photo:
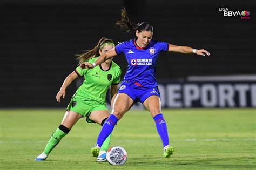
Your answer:
[[[138,37],[138,39],[136,41],[137,45],[141,48],[145,48],[147,46],[147,44],[150,43],[152,36],[153,36],[153,32],[151,32],[151,31],[139,32],[137,30],[136,36]]]

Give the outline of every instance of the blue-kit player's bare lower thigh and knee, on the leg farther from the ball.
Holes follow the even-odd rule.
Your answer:
[[[161,113],[161,100],[156,95],[148,97],[144,101],[143,105],[148,111],[150,111],[150,114],[152,115],[152,117]]]

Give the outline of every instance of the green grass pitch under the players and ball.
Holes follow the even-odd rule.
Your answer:
[[[149,112],[130,111],[114,128],[111,146],[126,149],[124,166],[90,155],[100,126],[81,119],[53,149],[40,154],[65,109],[0,110],[0,169],[255,169],[255,109],[163,110],[174,155],[163,158]]]

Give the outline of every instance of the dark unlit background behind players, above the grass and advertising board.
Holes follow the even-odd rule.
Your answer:
[[[77,66],[73,55],[92,49],[105,36],[114,42],[134,38],[115,22],[125,6],[134,23],[150,22],[154,39],[206,49],[209,57],[161,53],[158,81],[187,76],[256,74],[255,1],[1,1],[0,107],[64,107],[56,103],[63,80]],[[224,17],[219,8],[248,10],[250,18]],[[123,55],[114,58],[122,68]]]

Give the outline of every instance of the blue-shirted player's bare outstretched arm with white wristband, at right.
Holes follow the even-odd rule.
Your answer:
[[[206,54],[210,56],[210,53],[204,49],[197,50],[197,49],[192,49],[191,47],[188,47],[188,46],[178,46],[178,45],[172,45],[172,44],[169,44],[168,51],[180,52],[185,54],[196,53],[197,55],[201,55],[201,56],[205,56]]]

